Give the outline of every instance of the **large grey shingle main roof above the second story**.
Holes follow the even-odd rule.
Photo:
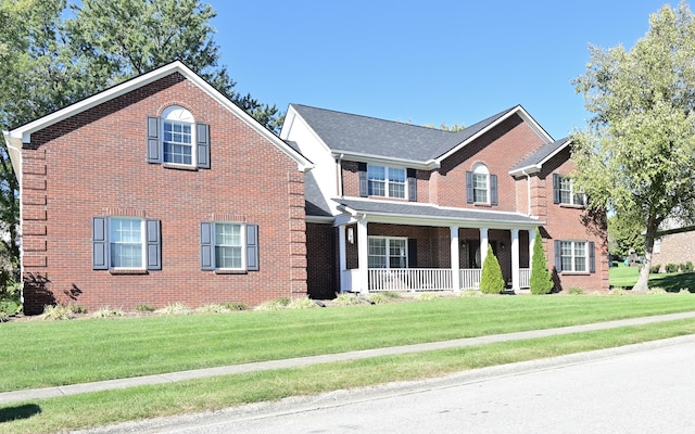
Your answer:
[[[301,104],[292,107],[332,151],[415,162],[428,162],[445,154],[516,108],[452,132]]]

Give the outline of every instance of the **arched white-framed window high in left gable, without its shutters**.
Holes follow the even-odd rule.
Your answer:
[[[172,105],[162,113],[163,162],[193,166],[193,115],[178,105]]]

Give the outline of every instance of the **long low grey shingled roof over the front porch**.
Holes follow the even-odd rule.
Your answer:
[[[544,221],[517,213],[450,208],[413,202],[333,199],[345,214],[336,218],[336,225],[345,225],[355,218],[369,222],[415,226],[458,226],[490,229],[533,229]],[[342,218],[341,218],[342,217]]]

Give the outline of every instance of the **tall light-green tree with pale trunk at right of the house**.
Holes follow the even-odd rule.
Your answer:
[[[649,17],[627,51],[591,47],[574,80],[592,113],[573,137],[574,179],[590,210],[612,209],[645,229],[644,266],[634,291],[648,289],[654,238],[667,218],[695,216],[695,20],[685,2]]]

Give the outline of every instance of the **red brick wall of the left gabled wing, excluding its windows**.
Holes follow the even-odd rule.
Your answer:
[[[169,105],[210,125],[211,169],[146,162],[146,118]],[[176,302],[254,305],[306,294],[304,184],[296,163],[178,74],[35,132],[23,158],[28,314],[48,303],[132,309]],[[161,220],[161,271],[91,269],[91,218],[114,214]],[[220,216],[260,226],[260,271],[200,270],[200,222]]]

